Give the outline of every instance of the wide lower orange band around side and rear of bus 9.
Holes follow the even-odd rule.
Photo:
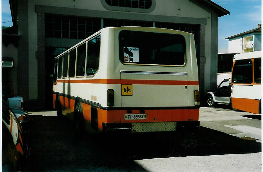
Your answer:
[[[60,96],[60,103],[65,108],[62,113],[73,120],[75,100]],[[91,123],[90,108],[91,105],[82,102],[83,117],[88,123]],[[103,110],[97,108],[98,130],[102,131],[102,123],[198,121],[199,109],[148,109],[145,110],[145,113],[140,113],[139,110],[132,110],[132,113],[130,113],[147,114],[146,120],[124,120],[124,114],[129,113],[127,113],[127,110]]]

